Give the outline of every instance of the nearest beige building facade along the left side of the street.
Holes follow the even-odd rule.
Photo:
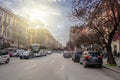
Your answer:
[[[0,45],[25,48],[28,24],[9,10],[0,6]]]

